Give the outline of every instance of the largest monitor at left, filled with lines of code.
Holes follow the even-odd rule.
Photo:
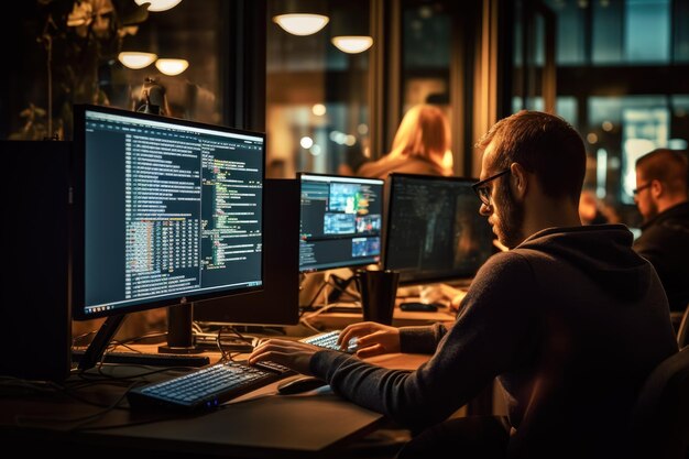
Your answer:
[[[265,134],[98,106],[74,127],[72,310],[109,318],[96,357],[127,313],[262,287]]]

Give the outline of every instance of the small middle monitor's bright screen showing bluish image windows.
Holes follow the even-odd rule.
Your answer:
[[[299,174],[299,271],[378,263],[383,186],[378,178]]]

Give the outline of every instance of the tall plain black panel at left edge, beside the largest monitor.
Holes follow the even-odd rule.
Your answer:
[[[61,381],[69,374],[72,142],[2,141],[0,374]]]

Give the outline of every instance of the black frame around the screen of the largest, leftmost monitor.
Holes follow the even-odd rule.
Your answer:
[[[85,136],[85,123],[86,112],[96,111],[107,114],[116,114],[138,120],[160,121],[174,123],[182,127],[208,129],[214,131],[221,131],[231,134],[245,134],[252,136],[259,136],[263,141],[262,151],[262,188],[265,184],[265,142],[266,134],[264,132],[250,131],[245,129],[229,128],[226,125],[216,125],[209,123],[203,123],[192,120],[185,120],[181,118],[164,117],[160,114],[142,113],[136,111],[130,111],[119,108],[80,103],[74,105],[74,155],[73,155],[73,177],[72,177],[72,237],[69,251],[69,303],[72,305],[72,317],[75,320],[90,320],[102,317],[125,315],[129,313],[155,309],[166,306],[175,306],[179,304],[188,304],[203,299],[214,299],[231,295],[240,295],[249,292],[256,292],[263,289],[263,283],[265,282],[265,255],[263,250],[261,251],[261,284],[252,286],[232,287],[217,289],[212,292],[206,292],[200,294],[187,294],[176,295],[172,298],[163,298],[157,300],[144,302],[142,304],[121,306],[114,309],[107,309],[102,312],[86,313],[86,299],[85,299],[85,206],[86,206],[86,136]],[[261,190],[261,208],[265,207],[264,190]],[[263,216],[261,218],[261,234],[263,234],[265,228],[263,223]]]

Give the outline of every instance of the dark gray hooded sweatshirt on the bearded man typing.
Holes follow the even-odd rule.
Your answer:
[[[632,241],[621,225],[539,231],[481,267],[452,327],[401,328],[403,352],[431,354],[416,371],[325,350],[310,370],[417,431],[497,378],[510,457],[616,457],[644,379],[677,352],[663,285]]]

